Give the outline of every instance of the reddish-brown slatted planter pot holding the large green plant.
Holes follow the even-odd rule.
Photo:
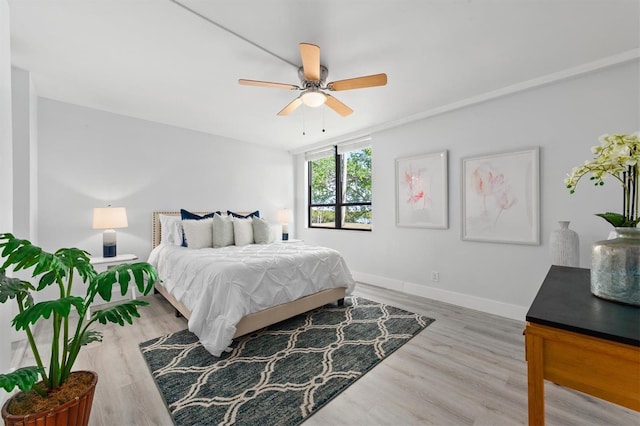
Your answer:
[[[5,426],[87,426],[98,375],[93,371],[75,371],[71,374],[76,373],[89,373],[93,376],[91,385],[82,395],[48,411],[27,415],[14,415],[7,412],[9,403],[15,398],[14,395],[2,406],[2,419]]]

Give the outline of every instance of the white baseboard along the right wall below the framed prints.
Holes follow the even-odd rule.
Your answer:
[[[440,302],[462,306],[463,308],[475,309],[477,311],[482,311],[492,315],[498,315],[500,317],[514,319],[517,321],[524,322],[525,316],[528,311],[528,308],[524,306],[518,306],[510,303],[486,299],[483,297],[471,296],[468,294],[429,287],[424,284],[400,281],[392,278],[381,277],[379,275],[368,274],[366,272],[352,271],[352,274],[353,278],[356,281],[365,284],[370,284],[389,290],[395,290],[414,296],[425,297],[427,299],[438,300]]]

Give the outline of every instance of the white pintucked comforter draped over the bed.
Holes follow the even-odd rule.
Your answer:
[[[229,347],[242,317],[355,281],[342,255],[304,244],[188,249],[159,245],[149,255],[162,285],[190,311],[189,330],[214,356]]]

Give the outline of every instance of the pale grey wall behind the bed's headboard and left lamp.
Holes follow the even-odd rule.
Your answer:
[[[102,255],[94,207],[127,208],[118,253],[146,260],[155,210],[256,210],[293,204],[286,152],[40,98],[39,241]]]

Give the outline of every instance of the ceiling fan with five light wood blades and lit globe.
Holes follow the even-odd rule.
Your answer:
[[[349,78],[326,83],[329,70],[320,65],[320,47],[315,44],[300,43],[300,57],[302,66],[298,69],[300,86],[295,84],[272,83],[269,81],[240,79],[238,83],[246,86],[273,87],[276,89],[300,90],[300,96],[285,106],[278,115],[288,115],[300,105],[319,107],[322,104],[337,112],[343,117],[351,114],[353,110],[337,100],[325,90],[337,92],[340,90],[361,89],[364,87],[384,86],[387,84],[386,74],[374,74],[364,77]]]

